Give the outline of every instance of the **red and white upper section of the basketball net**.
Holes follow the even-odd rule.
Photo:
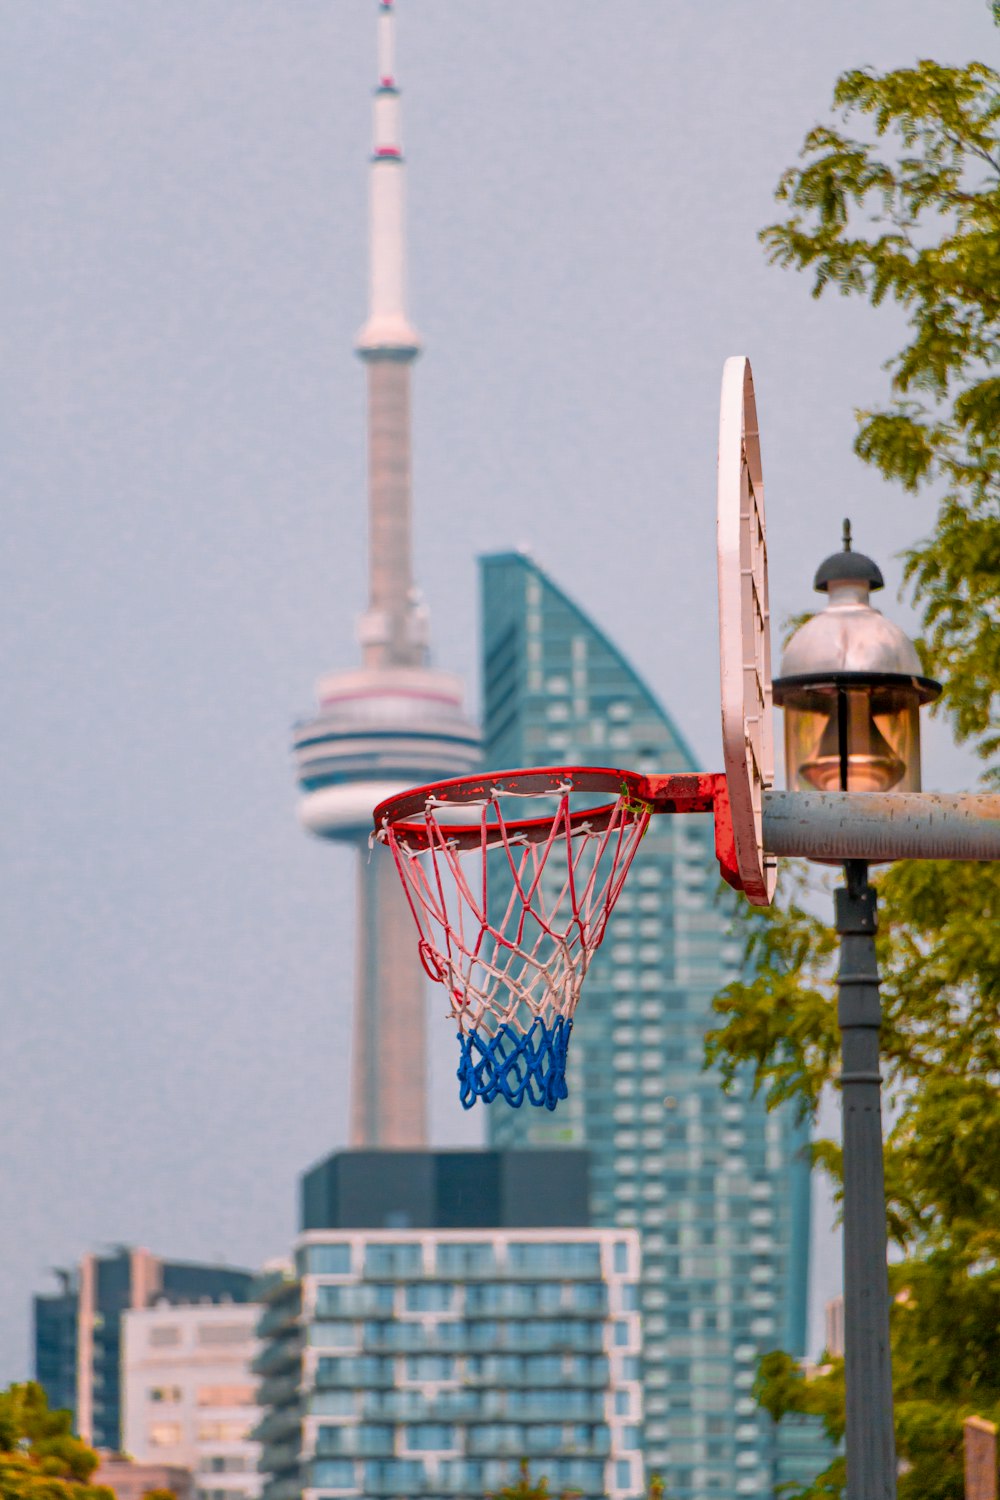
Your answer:
[[[546,819],[558,807],[552,826],[526,838],[508,830],[501,806],[526,795],[495,790],[460,807],[430,798],[418,842],[388,824],[381,834],[420,932],[424,969],[447,988],[460,1032],[493,1036],[501,1026],[526,1032],[535,1018],[550,1026],[573,1017],[649,824],[649,807],[625,792],[610,804],[610,819],[579,822],[565,788],[538,800]],[[460,849],[447,818],[462,814],[468,828],[477,813],[480,842]]]

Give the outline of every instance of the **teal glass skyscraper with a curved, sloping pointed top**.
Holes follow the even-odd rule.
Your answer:
[[[522,554],[483,560],[484,765],[696,766],[615,645]],[[778,1455],[750,1388],[805,1344],[807,1134],[703,1068],[741,964],[708,816],[654,818],[589,969],[568,1100],[489,1107],[495,1146],[586,1146],[595,1226],[642,1236],[643,1452],[672,1500],[769,1496]]]

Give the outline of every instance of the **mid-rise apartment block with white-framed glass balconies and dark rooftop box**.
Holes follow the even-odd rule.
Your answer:
[[[258,1287],[264,1500],[483,1500],[520,1458],[643,1494],[639,1236],[588,1227],[583,1152],[345,1152],[303,1210]]]

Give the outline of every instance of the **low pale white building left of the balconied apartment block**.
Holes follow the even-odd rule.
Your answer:
[[[259,1308],[157,1302],[121,1318],[121,1431],[142,1462],[190,1470],[195,1500],[256,1500]]]

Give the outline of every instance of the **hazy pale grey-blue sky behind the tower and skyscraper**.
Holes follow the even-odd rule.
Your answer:
[[[475,702],[474,558],[526,546],[715,770],[726,356],[778,620],[849,513],[912,622],[933,513],[850,453],[898,315],[811,302],[756,232],[837,72],[990,58],[985,0],[397,9],[438,660]],[[0,0],[0,1382],[46,1268],[282,1254],[345,1140],[351,856],[298,831],[288,742],[364,606],[375,12]],[[925,768],[975,777],[943,729]],[[439,1011],[435,1138],[475,1138]]]

